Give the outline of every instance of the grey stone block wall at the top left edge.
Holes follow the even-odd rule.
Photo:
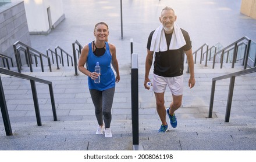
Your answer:
[[[10,2],[0,6],[0,53],[12,57],[15,65],[12,45],[16,41],[31,45],[23,1]],[[25,61],[24,56],[22,56],[22,61]],[[2,67],[2,60],[0,66]]]

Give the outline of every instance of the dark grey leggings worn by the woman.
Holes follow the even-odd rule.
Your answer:
[[[111,124],[111,109],[113,104],[113,97],[115,94],[115,87],[104,91],[90,90],[91,99],[95,107],[95,116],[99,126],[105,123],[105,128],[109,128]]]

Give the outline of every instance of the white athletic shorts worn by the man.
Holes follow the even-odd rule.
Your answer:
[[[183,94],[183,75],[175,77],[163,77],[154,74],[152,84],[152,90],[155,93],[163,93],[168,85],[173,95]]]

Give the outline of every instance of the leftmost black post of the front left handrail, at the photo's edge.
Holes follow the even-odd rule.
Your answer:
[[[10,119],[9,119],[8,109],[7,109],[6,100],[5,100],[5,93],[3,91],[1,75],[0,75],[0,107],[1,107],[1,113],[3,118],[3,125],[5,126],[5,133],[6,135],[12,135],[12,127],[10,126]]]

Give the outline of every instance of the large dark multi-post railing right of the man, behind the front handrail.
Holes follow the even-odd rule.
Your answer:
[[[231,49],[233,50],[233,58],[232,58],[232,68],[234,68],[234,64],[236,62],[236,58],[237,58],[237,49],[238,49],[238,46],[241,45],[239,44],[240,42],[242,41],[246,41],[247,43],[244,43],[247,45],[246,47],[246,51],[245,51],[245,54],[244,54],[244,69],[247,68],[247,62],[248,62],[248,56],[249,56],[249,52],[250,52],[250,45],[251,45],[251,39],[247,38],[247,36],[243,36],[242,38],[240,38],[239,40],[233,42],[232,44],[230,44],[229,46],[223,48],[222,50],[219,50],[218,52],[216,52],[214,54],[214,61],[213,61],[213,64],[212,64],[212,68],[214,69],[215,67],[215,60],[216,60],[216,56],[218,54],[221,54],[221,68],[223,67],[223,57],[224,57],[224,54],[227,53],[227,51],[230,51]],[[230,49],[231,48],[231,49]]]

